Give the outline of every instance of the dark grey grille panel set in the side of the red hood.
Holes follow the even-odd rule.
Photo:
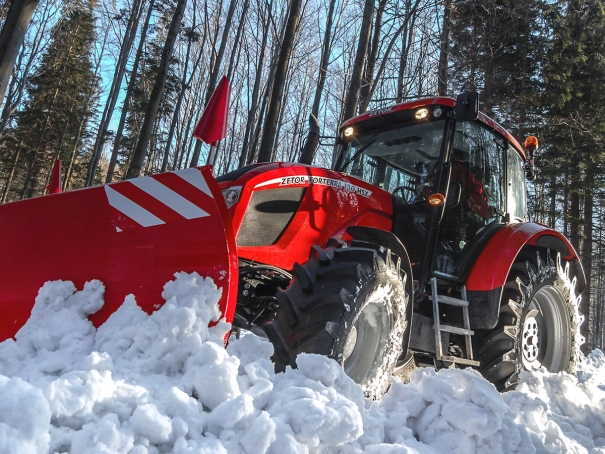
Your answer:
[[[238,246],[268,246],[277,241],[298,210],[305,188],[279,188],[252,194],[242,226]]]

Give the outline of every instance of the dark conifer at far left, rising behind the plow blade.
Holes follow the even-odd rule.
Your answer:
[[[81,157],[98,91],[91,62],[94,39],[92,3],[82,0],[53,30],[48,50],[29,78],[27,101],[7,134],[12,146],[6,149],[20,155],[12,181],[5,183],[9,200],[42,195],[54,159],[68,161],[74,149]],[[76,161],[73,184],[81,186],[83,163]]]

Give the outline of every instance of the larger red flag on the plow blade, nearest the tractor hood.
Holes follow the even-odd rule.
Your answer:
[[[215,144],[227,135],[229,95],[229,79],[227,76],[223,76],[193,131],[193,137],[209,144]]]

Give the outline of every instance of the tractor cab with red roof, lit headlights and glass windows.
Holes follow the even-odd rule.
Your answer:
[[[464,282],[493,233],[526,217],[523,149],[483,114],[461,114],[464,96],[403,103],[342,126],[337,170],[392,194],[392,229],[421,283]]]

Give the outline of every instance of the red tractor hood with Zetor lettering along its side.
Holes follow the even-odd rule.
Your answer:
[[[343,173],[268,163],[219,180],[239,256],[251,261],[292,269],[308,259],[309,244],[349,239],[349,226],[391,229],[391,194]]]

